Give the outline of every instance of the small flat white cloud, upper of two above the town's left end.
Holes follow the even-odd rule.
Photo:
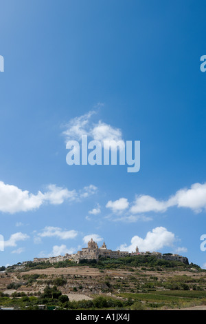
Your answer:
[[[39,237],[57,237],[61,240],[75,239],[78,235],[76,230],[62,230],[60,227],[46,226],[43,232],[38,233]]]

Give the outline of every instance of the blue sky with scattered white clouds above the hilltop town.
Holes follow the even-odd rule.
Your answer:
[[[76,252],[93,236],[203,267],[205,1],[0,8],[0,265]],[[65,133],[84,132],[140,141],[139,172],[67,165]]]

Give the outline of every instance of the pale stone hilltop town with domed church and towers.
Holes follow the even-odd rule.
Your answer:
[[[40,263],[40,262],[46,262],[49,261],[49,263],[56,263],[59,261],[65,261],[65,260],[71,260],[76,263],[80,263],[81,260],[96,260],[100,258],[100,256],[104,258],[111,258],[111,259],[118,259],[122,258],[124,256],[138,256],[138,255],[155,255],[159,259],[165,259],[170,261],[181,261],[185,264],[188,264],[188,259],[185,256],[181,256],[179,254],[161,254],[160,252],[139,252],[139,248],[136,247],[135,252],[127,252],[127,251],[113,251],[109,250],[106,247],[105,242],[102,244],[101,247],[98,247],[98,243],[93,241],[91,239],[88,242],[87,247],[83,247],[81,251],[78,251],[74,254],[65,254],[64,256],[52,256],[49,258],[34,258],[34,263]]]

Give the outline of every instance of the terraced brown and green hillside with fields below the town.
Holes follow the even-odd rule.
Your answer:
[[[154,256],[79,265],[31,262],[0,272],[0,294],[1,307],[21,309],[44,304],[65,310],[166,310],[206,305],[206,271]]]

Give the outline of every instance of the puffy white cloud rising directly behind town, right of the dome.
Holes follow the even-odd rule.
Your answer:
[[[118,247],[118,250],[132,252],[138,246],[140,252],[159,251],[165,246],[172,246],[174,239],[174,234],[169,232],[165,227],[155,227],[152,232],[146,234],[145,239],[137,235],[133,236],[130,245],[122,244]]]

